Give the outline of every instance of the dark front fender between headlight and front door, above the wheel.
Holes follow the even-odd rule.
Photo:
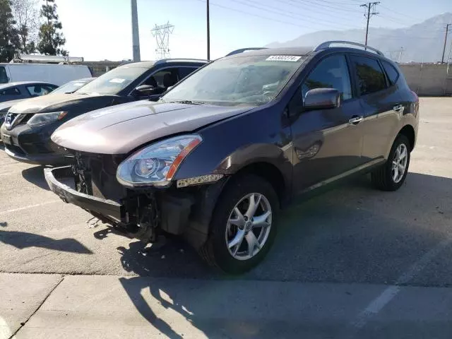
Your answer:
[[[262,117],[265,117],[263,119]],[[292,175],[290,128],[277,109],[262,109],[222,121],[200,131],[203,138],[174,179],[207,174],[234,174],[258,162],[275,166],[286,184]]]

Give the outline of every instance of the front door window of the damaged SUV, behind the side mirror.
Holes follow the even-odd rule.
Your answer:
[[[350,75],[347,61],[343,55],[334,55],[320,61],[314,71],[311,71],[302,85],[303,97],[308,90],[315,88],[335,88],[342,93],[343,100],[352,97]]]

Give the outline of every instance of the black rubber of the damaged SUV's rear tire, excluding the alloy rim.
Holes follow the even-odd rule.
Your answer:
[[[394,155],[396,154],[396,150],[400,144],[404,144],[408,150],[407,152],[407,164],[405,167],[405,173],[403,174],[400,182],[395,182],[391,173],[391,167],[394,159]],[[408,174],[408,168],[410,167],[410,141],[403,134],[399,134],[396,140],[393,143],[391,148],[391,152],[389,152],[388,160],[381,167],[371,172],[371,181],[372,184],[376,187],[376,189],[381,189],[382,191],[396,191],[403,185],[405,182],[405,178]]]

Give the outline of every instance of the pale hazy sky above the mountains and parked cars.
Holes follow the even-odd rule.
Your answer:
[[[42,1],[40,1],[42,2]],[[206,58],[205,0],[137,0],[141,59],[155,59],[155,24],[169,21],[171,57]],[[66,49],[85,60],[131,59],[130,0],[56,0]],[[210,54],[316,30],[363,28],[359,0],[210,0]],[[400,28],[452,11],[452,0],[381,0],[372,27]],[[364,38],[364,37],[363,37]]]

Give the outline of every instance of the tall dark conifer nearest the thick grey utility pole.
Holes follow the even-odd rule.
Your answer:
[[[63,25],[58,20],[57,4],[55,0],[44,1],[45,4],[41,8],[41,18],[44,18],[44,23],[40,27],[37,50],[45,55],[67,55],[68,52],[61,49],[66,39],[61,32]]]

